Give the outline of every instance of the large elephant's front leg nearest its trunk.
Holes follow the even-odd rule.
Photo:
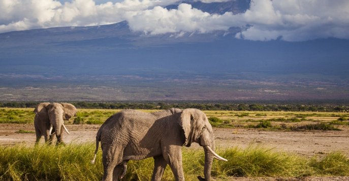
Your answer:
[[[163,157],[169,163],[176,181],[184,180],[181,146],[169,146],[163,150]]]

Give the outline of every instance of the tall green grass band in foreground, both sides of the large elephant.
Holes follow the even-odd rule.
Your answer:
[[[90,163],[93,151],[92,143],[59,147],[0,147],[0,180],[101,180],[101,149],[95,164]],[[213,163],[212,176],[221,179],[229,176],[349,175],[349,160],[338,152],[325,155],[322,159],[303,158],[256,145],[246,149],[218,148],[216,152],[229,160]],[[203,175],[202,149],[183,148],[182,155],[186,180],[196,180],[198,175]],[[152,158],[129,161],[123,180],[149,180],[152,170]],[[163,180],[173,179],[171,169],[167,167]]]

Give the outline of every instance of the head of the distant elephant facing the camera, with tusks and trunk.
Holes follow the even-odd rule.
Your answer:
[[[47,106],[49,120],[50,120],[50,131],[52,135],[52,129],[54,128],[57,137],[57,143],[61,142],[61,127],[63,127],[69,134],[68,129],[64,125],[64,120],[69,120],[71,117],[76,116],[77,109],[73,104],[70,103],[52,103]]]

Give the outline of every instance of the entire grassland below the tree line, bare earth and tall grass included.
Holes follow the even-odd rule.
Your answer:
[[[66,122],[71,134],[62,147],[34,147],[33,110],[0,108],[0,180],[100,180],[101,151],[96,165],[89,164],[94,136],[120,110],[78,109]],[[214,127],[218,153],[229,160],[214,162],[217,180],[349,180],[348,113],[204,112]],[[152,159],[130,162],[124,180],[148,180],[151,165]],[[186,180],[202,175],[199,145],[183,148],[183,165]],[[173,180],[169,168],[164,180]]]

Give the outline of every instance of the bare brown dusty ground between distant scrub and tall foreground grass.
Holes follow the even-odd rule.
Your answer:
[[[66,125],[70,135],[65,134],[64,140],[70,142],[95,141],[100,125]],[[263,147],[276,151],[287,151],[302,156],[326,154],[341,151],[349,156],[349,129],[342,131],[301,131],[282,132],[264,131],[259,129],[214,128],[216,143],[219,147],[247,147],[250,143],[261,144]],[[0,145],[11,146],[17,143],[34,145],[35,133],[15,133],[18,130],[34,131],[33,124],[0,124]],[[42,138],[41,142],[44,142]],[[198,148],[194,144],[192,148]],[[305,178],[244,178],[235,180],[349,180],[349,177],[305,177]]]

